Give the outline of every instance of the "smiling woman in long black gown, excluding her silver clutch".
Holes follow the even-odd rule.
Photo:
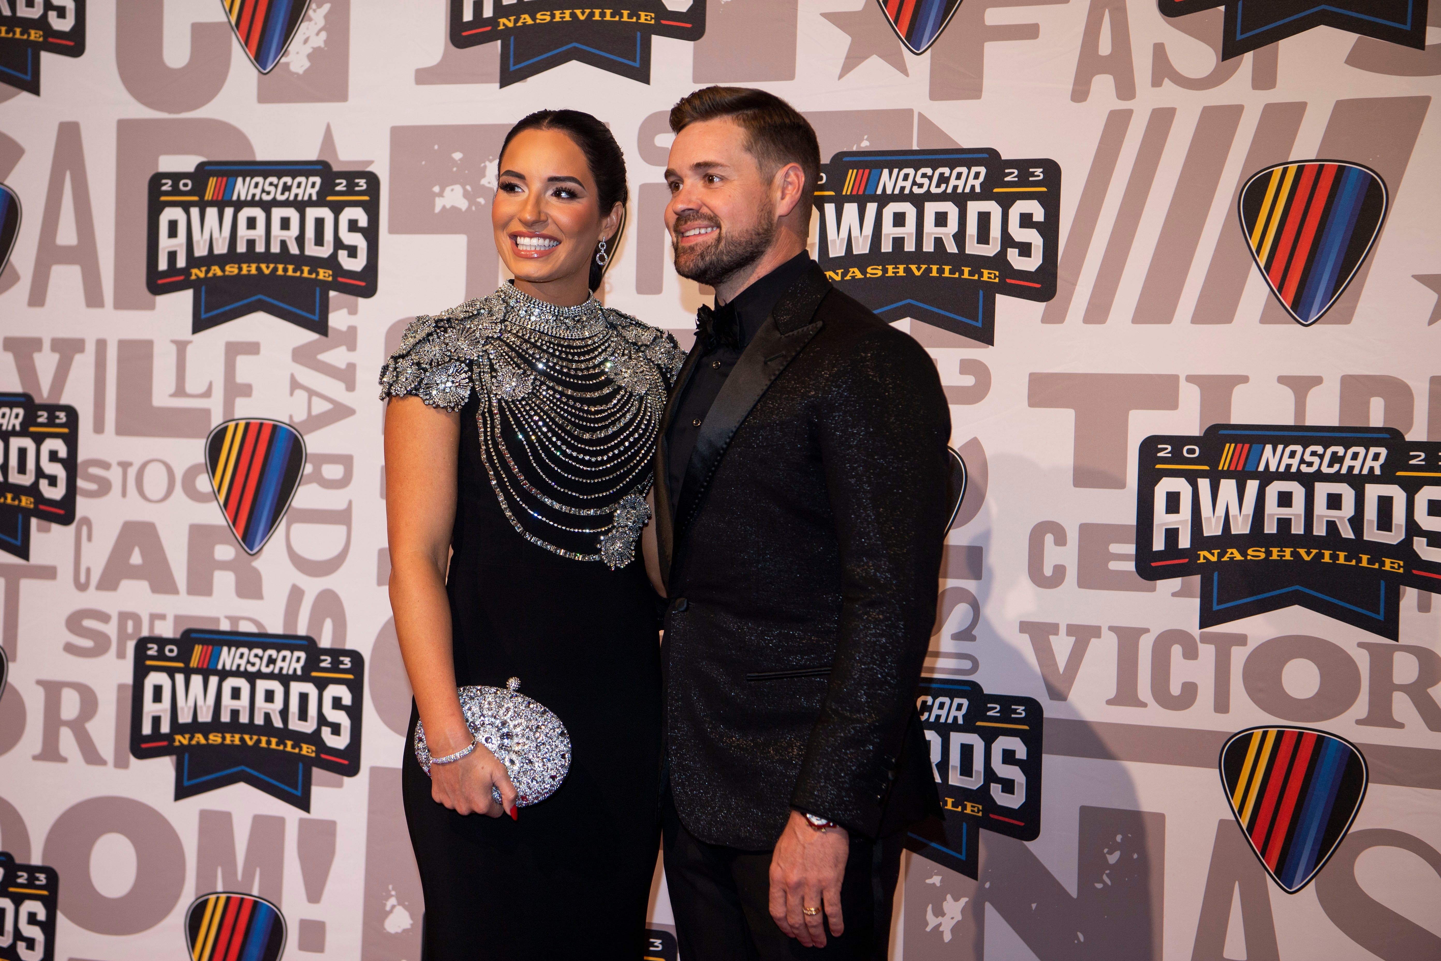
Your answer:
[[[660,774],[654,594],[635,542],[683,353],[591,295],[627,199],[605,125],[532,114],[499,169],[491,225],[514,281],[418,317],[380,376],[424,957],[631,960]],[[494,755],[465,752],[455,693],[510,677],[571,736],[565,781],[525,808]],[[431,777],[414,755],[416,719],[432,758],[461,755]]]

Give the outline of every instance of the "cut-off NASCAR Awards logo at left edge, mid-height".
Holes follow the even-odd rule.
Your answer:
[[[0,393],[0,550],[30,559],[30,519],[75,523],[79,418],[68,403]]]

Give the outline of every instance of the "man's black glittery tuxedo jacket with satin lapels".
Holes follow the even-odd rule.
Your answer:
[[[873,839],[940,811],[915,689],[948,437],[925,350],[810,265],[716,396],[676,516],[661,441],[666,751],[697,839],[769,849],[791,808]]]

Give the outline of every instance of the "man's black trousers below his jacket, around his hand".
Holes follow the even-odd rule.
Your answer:
[[[901,836],[879,841],[850,839],[840,886],[846,932],[824,948],[785,937],[771,919],[771,852],[706,844],[676,814],[670,790],[661,801],[666,886],[676,915],[676,939],[686,961],[781,961],[846,958],[885,961],[891,908],[901,873]]]

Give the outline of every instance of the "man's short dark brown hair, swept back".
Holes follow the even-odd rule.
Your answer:
[[[767,176],[788,163],[800,164],[806,174],[801,203],[808,215],[820,179],[820,144],[810,121],[775,94],[749,86],[706,86],[670,108],[670,130],[679,134],[690,124],[722,118],[746,133],[745,148]]]

